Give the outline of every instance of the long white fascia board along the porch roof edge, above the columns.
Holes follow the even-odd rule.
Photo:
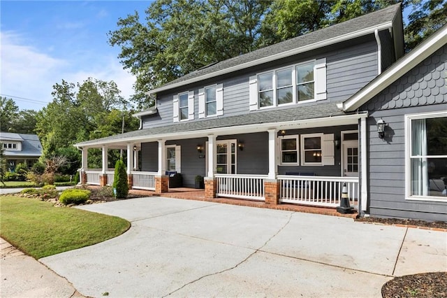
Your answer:
[[[260,123],[253,125],[238,125],[231,127],[218,127],[212,129],[199,129],[189,132],[174,132],[169,134],[157,134],[152,136],[136,136],[119,140],[110,141],[87,141],[76,143],[77,148],[100,148],[104,145],[115,144],[115,146],[123,146],[126,143],[152,142],[157,140],[178,140],[178,139],[195,139],[209,135],[225,136],[230,134],[247,134],[256,132],[267,132],[268,129],[305,129],[309,127],[332,127],[339,125],[356,125],[361,118],[367,118],[368,113],[356,113],[352,115],[331,116],[325,118],[295,120],[286,122]],[[108,148],[111,148],[108,146]]]

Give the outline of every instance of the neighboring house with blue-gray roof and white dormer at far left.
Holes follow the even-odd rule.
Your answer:
[[[0,132],[0,143],[10,171],[15,171],[15,166],[21,163],[31,168],[42,155],[42,144],[36,134]]]

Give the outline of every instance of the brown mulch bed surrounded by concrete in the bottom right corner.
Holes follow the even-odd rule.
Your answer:
[[[382,297],[447,297],[447,272],[393,278],[383,285]]]

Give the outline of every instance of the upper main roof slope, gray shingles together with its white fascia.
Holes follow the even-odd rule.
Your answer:
[[[341,41],[348,41],[359,36],[374,33],[376,29],[392,28],[395,23],[393,21],[397,15],[401,15],[400,3],[388,6],[388,8],[382,10],[377,10],[374,13],[362,15],[361,17],[356,17],[346,22],[310,32],[309,34],[254,50],[244,55],[226,59],[216,64],[210,64],[210,66],[188,73],[181,78],[177,78],[161,87],[151,90],[147,94],[155,94],[156,92],[170,90],[225,73],[231,73],[240,69],[247,69],[251,66],[297,55],[300,52],[307,52]],[[402,26],[402,22],[400,22],[400,25]]]

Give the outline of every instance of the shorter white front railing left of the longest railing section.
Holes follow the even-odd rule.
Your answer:
[[[265,201],[264,180],[267,175],[216,174],[217,197]]]

